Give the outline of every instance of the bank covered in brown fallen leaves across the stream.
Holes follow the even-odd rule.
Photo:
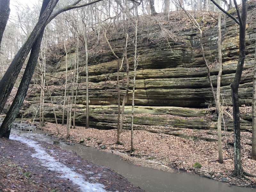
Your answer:
[[[151,167],[154,169],[173,172],[173,169],[183,170],[198,174],[202,177],[214,179],[241,187],[255,187],[256,179],[248,177],[237,178],[231,175],[234,169],[233,161],[233,132],[223,132],[222,150],[224,163],[218,163],[218,145],[217,131],[215,130],[192,130],[179,129],[177,133],[184,135],[194,135],[194,138],[183,139],[173,135],[163,133],[152,133],[142,130],[134,130],[134,148],[135,151],[128,152],[131,148],[131,131],[123,130],[120,134],[120,141],[123,145],[116,144],[116,130],[98,130],[76,126],[70,129],[70,137],[67,136],[66,126],[59,125],[60,134],[57,135],[56,125],[47,123],[42,127],[43,130],[50,133],[59,140],[79,143],[84,139],[82,145],[94,148],[105,147],[112,153],[122,156],[126,161],[138,166]],[[241,158],[244,171],[255,174],[256,161],[251,159],[250,132],[241,132]],[[205,141],[195,138],[206,138],[211,141]],[[104,146],[103,146],[104,145]],[[194,167],[198,162],[201,168]]]

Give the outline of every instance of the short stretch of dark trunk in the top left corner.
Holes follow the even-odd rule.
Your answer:
[[[0,50],[4,29],[10,15],[10,0],[0,0]]]

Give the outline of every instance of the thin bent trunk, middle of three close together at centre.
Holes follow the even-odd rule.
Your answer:
[[[128,58],[127,58],[127,42],[128,42],[128,34],[126,35],[126,44],[125,44],[125,50],[124,50],[124,58],[125,58],[125,63],[126,63],[126,91],[124,93],[124,98],[123,98],[123,103],[122,103],[122,112],[121,112],[121,119],[120,119],[120,130],[119,130],[120,133],[123,131],[124,105],[125,105],[126,96],[129,92],[129,61],[128,61]]]

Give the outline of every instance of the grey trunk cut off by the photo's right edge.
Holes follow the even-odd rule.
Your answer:
[[[252,88],[252,159],[256,160],[256,42],[253,68]]]

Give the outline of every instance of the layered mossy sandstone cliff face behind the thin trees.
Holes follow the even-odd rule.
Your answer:
[[[256,16],[255,4],[249,5],[247,20],[247,56],[244,72],[239,87],[241,105],[252,103],[252,81],[255,49]],[[231,14],[236,12],[233,10]],[[203,30],[203,46],[205,57],[210,65],[213,86],[216,89],[218,75],[218,31],[215,19],[209,18],[207,12],[199,13],[197,21]],[[208,15],[208,16],[207,16]],[[207,18],[206,18],[207,17]],[[223,16],[222,32],[222,61],[223,74],[221,77],[221,97],[224,106],[230,106],[231,89],[236,72],[239,53],[239,26]],[[129,42],[127,57],[129,60],[129,93],[125,101],[124,128],[131,127],[132,78],[134,69],[134,36],[132,25],[127,27]],[[135,127],[138,129],[168,131],[173,127],[213,129],[216,128],[215,116],[209,116],[214,111],[209,107],[213,104],[212,92],[207,77],[207,69],[202,57],[199,32],[193,27],[182,12],[156,17],[141,17],[138,32],[138,66],[135,81]],[[111,46],[120,61],[122,61],[125,46],[125,34],[120,29],[113,29],[108,35]],[[117,124],[117,60],[109,50],[104,39],[95,44],[89,38],[89,108],[90,126],[100,129],[116,128]],[[85,61],[84,51],[80,55],[79,87],[76,106],[76,123],[85,125]],[[75,53],[68,54],[69,73],[72,73]],[[51,58],[48,58],[51,60]],[[65,56],[54,63],[52,76],[63,77],[65,74]],[[120,70],[121,102],[126,87],[126,63]],[[52,97],[56,108],[61,111],[65,81],[50,77]],[[33,88],[34,85],[31,85]],[[71,86],[69,86],[71,87]],[[35,91],[35,89],[34,89]],[[39,89],[28,92],[26,100],[34,105],[40,100]],[[45,93],[45,97],[49,97]],[[46,99],[46,102],[47,101]],[[57,114],[61,119],[62,112]],[[52,109],[45,111],[48,121],[53,121]],[[225,117],[228,129],[232,129],[232,119]],[[243,115],[242,129],[250,129],[250,115]]]

